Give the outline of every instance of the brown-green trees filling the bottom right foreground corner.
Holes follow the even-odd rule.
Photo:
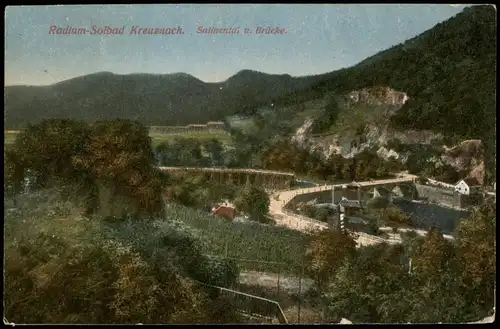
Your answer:
[[[460,323],[492,313],[496,287],[496,206],[464,220],[454,241],[438,229],[399,245],[356,249],[352,236],[322,231],[308,261],[332,321]]]

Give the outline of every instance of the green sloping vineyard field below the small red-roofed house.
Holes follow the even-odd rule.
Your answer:
[[[205,252],[212,255],[281,262],[281,271],[299,273],[309,237],[287,228],[258,223],[237,223],[205,215],[178,205],[167,208],[167,220],[177,218],[196,229],[197,237],[204,241]],[[241,269],[275,272],[277,265],[239,262]]]

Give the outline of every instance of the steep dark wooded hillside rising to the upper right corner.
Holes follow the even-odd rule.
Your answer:
[[[393,116],[399,130],[429,129],[455,141],[485,142],[490,168],[495,152],[496,10],[467,7],[415,38],[384,50],[330,78],[275,102],[291,105],[384,86],[410,100]]]

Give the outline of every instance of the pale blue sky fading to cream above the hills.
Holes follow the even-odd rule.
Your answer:
[[[109,71],[224,81],[242,69],[302,76],[352,66],[412,38],[465,5],[247,4],[19,6],[5,10],[5,84],[48,85]],[[51,35],[51,25],[125,26],[124,35]],[[183,35],[129,35],[132,26]],[[240,35],[199,35],[239,27]],[[285,35],[243,34],[280,27]]]

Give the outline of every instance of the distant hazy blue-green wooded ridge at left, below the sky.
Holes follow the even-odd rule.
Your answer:
[[[221,83],[185,74],[117,75],[99,72],[50,86],[5,87],[6,128],[22,128],[46,118],[85,121],[133,119],[149,125],[221,120],[251,111],[325,75],[291,77],[243,70]]]

